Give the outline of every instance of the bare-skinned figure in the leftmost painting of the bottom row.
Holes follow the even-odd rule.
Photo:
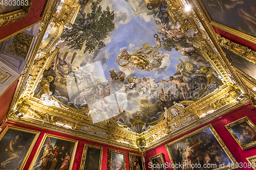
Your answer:
[[[5,165],[12,162],[15,158],[18,158],[20,151],[18,151],[19,148],[24,148],[24,146],[18,145],[18,139],[19,135],[15,137],[15,139],[11,140],[10,143],[8,144],[7,148],[5,149],[6,151],[6,156],[8,157],[7,160],[1,163],[1,166],[5,168]]]

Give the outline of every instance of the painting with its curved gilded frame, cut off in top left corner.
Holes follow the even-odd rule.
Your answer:
[[[2,1],[0,4],[0,26],[8,25],[18,19],[25,18],[30,11],[32,0],[25,1]]]

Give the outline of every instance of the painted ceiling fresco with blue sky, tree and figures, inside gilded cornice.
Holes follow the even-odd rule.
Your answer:
[[[130,125],[136,114],[152,123],[175,102],[196,101],[222,85],[179,22],[172,21],[168,5],[150,3],[152,10],[144,1],[80,2],[43,75],[56,100]],[[186,36],[196,34],[188,30]]]

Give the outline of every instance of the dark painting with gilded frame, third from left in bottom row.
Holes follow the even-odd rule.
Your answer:
[[[102,147],[84,144],[80,170],[101,170]]]

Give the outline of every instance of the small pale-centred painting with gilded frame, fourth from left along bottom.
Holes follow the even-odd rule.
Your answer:
[[[126,170],[125,152],[109,149],[108,170]]]

